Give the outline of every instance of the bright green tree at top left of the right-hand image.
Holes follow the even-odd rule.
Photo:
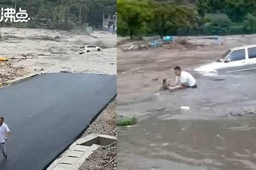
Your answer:
[[[143,21],[150,20],[151,8],[147,3],[129,0],[117,0],[117,5],[117,12],[122,21],[126,23],[132,39],[136,29],[142,26]]]

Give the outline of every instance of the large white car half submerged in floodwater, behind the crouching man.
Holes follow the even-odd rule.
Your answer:
[[[194,69],[197,72],[236,72],[256,69],[256,45],[229,49],[217,62]]]

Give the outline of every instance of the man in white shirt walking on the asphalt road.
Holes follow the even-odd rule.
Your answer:
[[[0,150],[3,153],[4,159],[7,159],[5,142],[10,135],[10,130],[9,130],[8,126],[3,121],[4,121],[4,118],[0,117]]]

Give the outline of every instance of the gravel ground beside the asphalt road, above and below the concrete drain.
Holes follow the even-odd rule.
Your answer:
[[[116,99],[99,115],[90,125],[83,136],[91,133],[116,136]],[[116,143],[108,147],[97,149],[91,154],[79,170],[116,169],[117,166]]]

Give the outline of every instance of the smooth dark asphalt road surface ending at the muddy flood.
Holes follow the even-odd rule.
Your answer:
[[[116,76],[54,73],[0,89],[0,115],[11,130],[1,170],[41,170],[116,95]]]

